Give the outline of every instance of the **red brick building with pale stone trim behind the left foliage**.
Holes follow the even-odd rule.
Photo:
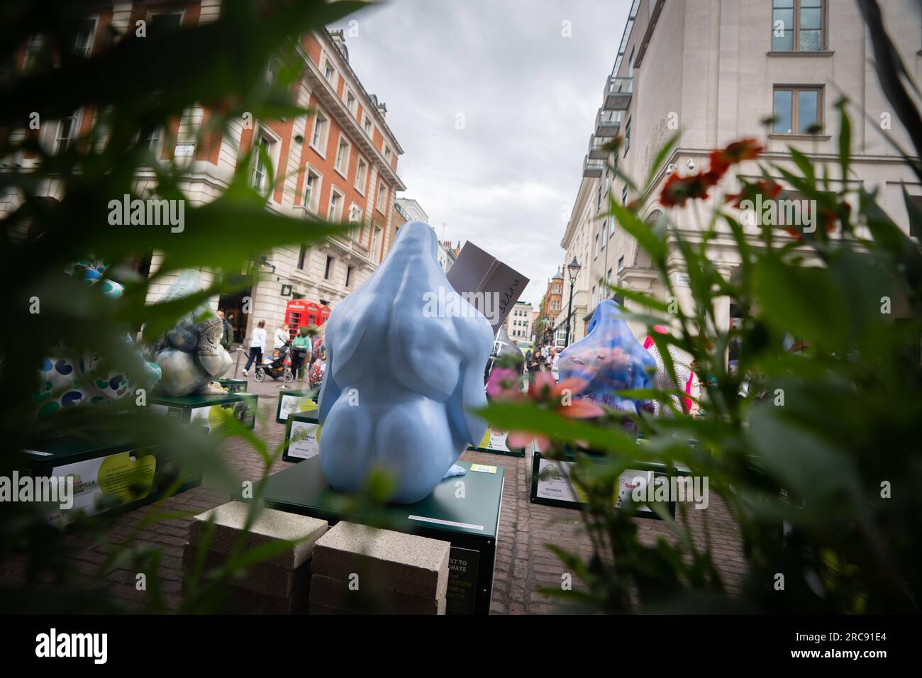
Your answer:
[[[132,34],[139,20],[147,22],[151,34],[214,21],[220,10],[220,0],[100,3],[87,18],[77,49],[89,57],[104,49],[105,43]],[[30,40],[20,51],[18,66],[28,67],[41,56],[43,47],[41,36]],[[394,208],[396,192],[405,189],[397,172],[403,149],[385,122],[387,107],[362,87],[349,65],[343,32],[313,31],[302,36],[296,48],[303,67],[290,88],[291,101],[310,107],[310,115],[285,120],[237,119],[222,135],[204,132],[210,112],[192,106],[171,121],[168,129],[152,130],[147,137],[160,161],[178,159],[183,164],[184,196],[190,206],[221,195],[243,154],[257,145],[266,151],[272,168],[254,154],[245,170],[251,185],[268,196],[266,209],[305,220],[319,217],[354,224],[349,232],[326,237],[319,244],[278,247],[261,253],[244,270],[225,272],[231,278],[254,269],[259,272],[252,287],[213,300],[216,307],[230,312],[237,341],[248,337],[259,320],[266,320],[268,327],[278,325],[292,299],[316,303],[328,315],[386,255],[396,232],[395,216],[399,217]],[[275,77],[277,66],[274,62],[267,65],[267,79]],[[50,150],[59,149],[85,135],[94,122],[95,112],[78,111],[65,120],[42,125],[40,141]],[[25,133],[14,133],[18,132]],[[28,166],[30,159],[22,160]],[[273,175],[278,180],[269,185]],[[153,169],[138,172],[136,193],[153,188],[154,177]],[[60,191],[52,183],[48,195],[58,197]],[[15,208],[17,199],[7,198],[0,211]],[[309,228],[307,223],[305,228]],[[139,268],[156,271],[160,261],[153,252]],[[205,274],[210,280],[210,273]],[[152,284],[148,301],[159,299],[170,282],[171,277],[166,276]],[[247,299],[249,304],[245,304]],[[243,313],[246,306],[248,314]]]

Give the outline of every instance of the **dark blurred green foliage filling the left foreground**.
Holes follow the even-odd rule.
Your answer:
[[[272,120],[310,113],[292,103],[291,85],[301,77],[302,67],[295,41],[309,30],[324,30],[325,24],[363,3],[228,2],[212,23],[143,39],[132,27],[125,36],[110,34],[107,42],[111,44],[99,54],[77,57],[69,46],[74,44],[81,19],[96,6],[89,0],[6,1],[0,5],[4,17],[0,53],[6,66],[0,72],[0,97],[5,102],[0,110],[0,158],[5,159],[0,193],[14,196],[0,220],[0,286],[7,328],[0,337],[0,391],[5,403],[0,410],[4,440],[0,474],[9,476],[17,468],[18,450],[36,437],[99,429],[131,434],[139,446],[171,446],[179,450],[183,461],[202,466],[211,482],[229,493],[239,491],[241,479],[234,477],[219,455],[223,439],[231,435],[247,439],[264,460],[263,477],[280,451],[270,451],[239,422],[226,418],[220,434],[206,437],[137,407],[134,398],[64,409],[37,421],[32,394],[38,389],[38,367],[45,356],[56,354],[60,342],[104,355],[107,367],[124,375],[140,375],[139,360],[122,339],[124,328],[143,326],[146,337],[156,337],[209,297],[246,284],[225,280],[222,272],[245,270],[248,262],[275,246],[311,243],[339,232],[341,227],[335,224],[292,219],[267,210],[266,196],[247,182],[252,149],[240,153],[230,184],[218,199],[200,207],[187,206],[182,232],[171,232],[169,227],[112,226],[107,215],[109,202],[126,194],[183,199],[188,167],[156,160],[144,137],[151,129],[171,129],[170,123],[188,107],[200,105],[211,113],[198,132],[199,143],[223,134],[244,114],[253,120]],[[20,70],[16,55],[36,34],[44,37],[45,49],[34,65]],[[272,82],[266,79],[270,59],[278,62]],[[47,152],[30,123],[44,125],[77,110],[95,113],[89,132],[61,152]],[[175,140],[168,137],[166,143]],[[19,159],[24,156],[34,158],[35,166],[23,169]],[[263,160],[271,168],[271,159]],[[143,194],[136,184],[141,170],[150,176]],[[270,170],[268,184],[277,181],[281,177]],[[48,197],[49,185],[54,187],[54,198]],[[133,273],[127,265],[143,260],[151,251],[162,256],[156,273],[149,279]],[[108,299],[99,289],[63,274],[69,263],[88,256],[112,264],[114,277],[125,286],[120,299]],[[210,269],[218,275],[207,290],[193,297],[148,305],[149,286],[182,268]],[[30,312],[35,299],[41,303],[39,313]],[[258,494],[254,498],[258,500]],[[161,506],[162,502],[141,527],[177,517]],[[258,501],[253,506],[255,516]],[[4,503],[0,510],[0,560],[24,554],[27,570],[23,586],[4,587],[6,611],[122,609],[105,596],[88,596],[68,586],[73,569],[67,559],[65,534],[50,526],[37,506]],[[100,565],[98,577],[125,563],[134,563],[139,571],[152,567],[156,572],[159,550],[138,546],[134,534],[111,541],[105,520],[96,517],[82,517],[76,528],[84,538],[106,547],[107,560]],[[195,596],[187,598],[183,610],[215,609],[219,601],[205,595],[207,591],[219,588],[221,581],[243,566],[270,555],[248,553],[235,558],[211,577],[207,590],[195,584]],[[57,582],[54,589],[42,585],[47,577]],[[153,581],[146,609],[164,610]]]

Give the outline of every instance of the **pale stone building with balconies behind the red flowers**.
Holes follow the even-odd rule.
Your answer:
[[[917,81],[922,74],[917,30],[922,6],[893,0],[881,4],[881,10],[903,63]],[[739,138],[759,139],[765,147],[762,158],[780,167],[791,166],[788,147],[811,161],[834,164],[835,105],[845,96],[852,102],[854,135],[852,175],[845,178],[848,190],[878,189],[881,208],[908,232],[902,192],[922,200],[922,185],[885,137],[911,148],[871,73],[872,62],[861,16],[851,0],[634,0],[614,67],[603,83],[582,182],[561,239],[564,265],[575,257],[581,268],[572,309],[568,294],[563,295],[555,323],[558,334],[570,320],[571,342],[582,338],[597,304],[613,296],[609,285],[665,298],[649,258],[607,215],[609,201],[627,205],[638,198],[611,168],[642,181],[656,153],[679,131],[677,147],[640,206],[639,214],[648,223],[667,209],[658,196],[672,172],[691,173],[706,164],[711,149]],[[604,147],[615,137],[621,137],[621,148],[611,154]],[[736,193],[740,179],[760,178],[754,163],[743,163],[718,186],[719,193]],[[787,187],[780,172],[772,178]],[[834,188],[843,182],[834,172],[830,180]],[[792,191],[783,196],[796,198]],[[700,215],[693,208],[668,210],[682,235],[693,239]],[[748,228],[755,238],[761,226]],[[725,276],[737,263],[731,249],[728,232],[709,245],[711,260]],[[674,246],[669,257],[681,268]],[[680,272],[675,276],[678,302],[687,303],[687,283]],[[568,285],[565,281],[564,287]],[[631,302],[626,306],[636,310]],[[724,327],[732,322],[735,311],[729,303],[715,311]],[[633,329],[638,336],[645,332],[643,327]]]

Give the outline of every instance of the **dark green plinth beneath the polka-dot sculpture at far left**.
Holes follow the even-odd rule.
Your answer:
[[[77,511],[115,515],[157,501],[169,490],[202,483],[202,470],[165,445],[144,446],[105,432],[35,440],[18,452],[17,470],[34,478],[74,478],[73,506],[49,506],[66,525]]]

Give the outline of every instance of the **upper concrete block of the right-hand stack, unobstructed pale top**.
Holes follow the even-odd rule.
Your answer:
[[[356,573],[360,587],[437,601],[448,586],[450,550],[448,541],[340,521],[317,541],[311,569],[345,580]]]

